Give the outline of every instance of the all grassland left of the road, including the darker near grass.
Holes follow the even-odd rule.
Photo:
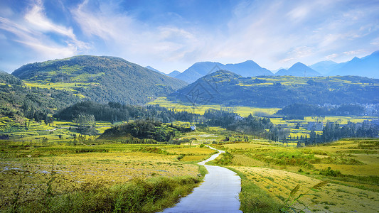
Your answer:
[[[46,132],[52,133],[41,135]],[[80,212],[88,207],[95,212],[118,208],[156,212],[171,206],[198,185],[198,177],[204,171],[193,162],[214,153],[196,146],[130,145],[98,141],[90,136],[83,136],[76,143],[73,138],[59,139],[58,135],[69,133],[68,129],[34,133],[18,133],[23,137],[16,141],[0,141],[1,210]],[[164,191],[156,191],[165,185]],[[137,198],[130,197],[130,193],[137,193],[139,200],[131,200]],[[62,197],[68,200],[61,200]],[[121,197],[129,203],[119,201]],[[146,201],[146,197],[151,200]],[[87,203],[83,204],[85,199]],[[99,199],[104,207],[93,199]]]

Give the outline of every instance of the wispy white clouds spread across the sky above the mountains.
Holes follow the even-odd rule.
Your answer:
[[[4,33],[8,40],[56,58],[83,52],[116,55],[167,72],[204,60],[251,59],[274,70],[297,61],[341,61],[348,54],[362,56],[379,47],[379,4],[363,1],[240,1],[225,16],[231,18],[220,17],[214,26],[191,23],[181,11],[169,14],[180,21],[149,23],[120,10],[118,0],[96,4],[84,0],[64,8],[73,18],[70,21],[76,22],[65,26],[48,18],[41,2],[32,4],[18,20],[0,17],[0,28],[15,35]]]

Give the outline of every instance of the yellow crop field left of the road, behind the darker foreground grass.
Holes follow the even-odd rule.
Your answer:
[[[209,148],[196,146],[107,141],[92,142],[92,146],[85,143],[70,146],[70,143],[55,141],[0,141],[0,207],[14,199],[18,202],[35,200],[49,190],[61,194],[85,185],[111,187],[135,178],[197,178],[198,165],[191,162],[214,153]],[[182,158],[178,158],[179,155]]]

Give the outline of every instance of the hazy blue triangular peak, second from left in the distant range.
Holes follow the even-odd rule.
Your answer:
[[[273,75],[271,71],[260,67],[256,62],[252,60],[247,60],[238,64],[227,64],[225,65],[225,70],[235,72],[242,77],[252,77],[259,75]]]

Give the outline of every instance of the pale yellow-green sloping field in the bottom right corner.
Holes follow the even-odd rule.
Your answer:
[[[290,173],[284,170],[274,170],[270,168],[257,167],[237,167],[247,175],[249,180],[255,182],[269,195],[276,197],[277,200],[286,200],[289,193],[298,184],[301,186],[300,193],[307,192],[310,187],[320,182],[315,178],[309,178],[304,175]],[[329,183],[321,188],[319,192],[308,192],[312,195],[306,195],[296,202],[294,207],[304,209],[304,212],[378,212],[379,193],[361,190],[356,187],[336,185]]]

